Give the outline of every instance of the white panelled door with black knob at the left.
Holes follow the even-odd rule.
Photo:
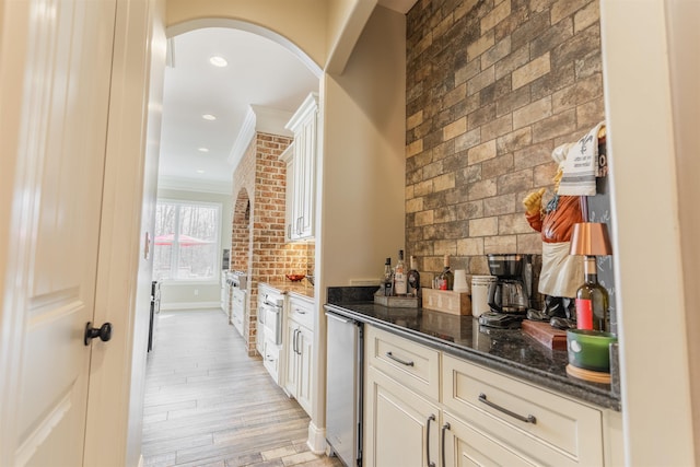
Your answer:
[[[0,465],[83,462],[115,8],[0,0]]]

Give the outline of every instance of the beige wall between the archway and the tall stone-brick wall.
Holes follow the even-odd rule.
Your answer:
[[[312,408],[317,428],[326,425],[325,291],[352,279],[378,279],[384,259],[404,247],[405,47],[406,16],[378,7],[343,74],[322,81]]]

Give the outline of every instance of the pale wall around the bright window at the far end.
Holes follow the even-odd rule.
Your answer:
[[[159,199],[221,203],[221,248],[219,257],[221,257],[224,248],[231,248],[232,195],[159,188],[158,197]],[[161,284],[161,310],[218,307],[220,302],[221,282],[219,276],[214,280],[207,282],[178,283],[165,281]]]

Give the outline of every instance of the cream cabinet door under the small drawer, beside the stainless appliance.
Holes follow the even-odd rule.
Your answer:
[[[440,465],[439,407],[373,366],[368,367],[366,375],[364,465]]]

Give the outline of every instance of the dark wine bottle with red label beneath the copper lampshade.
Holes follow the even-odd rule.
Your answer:
[[[608,292],[598,284],[595,256],[586,256],[583,271],[585,282],[576,291],[576,327],[609,331]]]

